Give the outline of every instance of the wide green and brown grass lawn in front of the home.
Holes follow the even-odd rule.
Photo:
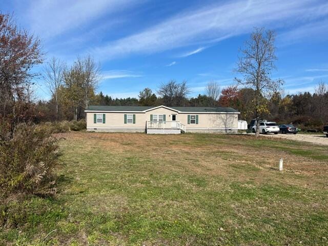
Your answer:
[[[57,195],[12,202],[0,244],[328,245],[327,147],[246,135],[59,136]]]

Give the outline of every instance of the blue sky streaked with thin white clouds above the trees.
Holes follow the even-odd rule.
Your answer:
[[[113,97],[154,91],[187,80],[196,96],[211,81],[234,83],[238,49],[255,26],[275,29],[277,70],[285,93],[328,83],[328,2],[3,0],[2,12],[39,36],[47,57],[71,64],[91,54],[100,61],[98,91]],[[40,69],[40,68],[37,68]],[[37,96],[48,99],[42,80]]]

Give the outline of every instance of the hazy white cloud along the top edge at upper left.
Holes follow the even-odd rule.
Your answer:
[[[35,0],[25,7],[24,14],[30,29],[43,38],[50,38],[68,30],[85,28],[104,14],[115,14],[131,8],[134,0]]]

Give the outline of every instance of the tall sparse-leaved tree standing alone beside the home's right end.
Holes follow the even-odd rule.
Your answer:
[[[255,117],[257,119],[256,137],[259,135],[259,119],[261,114],[268,112],[265,96],[270,96],[279,90],[283,80],[271,78],[271,71],[275,69],[276,47],[275,32],[264,31],[263,28],[255,28],[250,39],[245,43],[245,48],[240,50],[236,72],[243,75],[243,79],[237,79],[238,84],[254,89]]]

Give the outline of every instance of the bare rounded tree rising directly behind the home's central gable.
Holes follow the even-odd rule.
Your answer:
[[[177,83],[175,80],[170,80],[167,84],[161,84],[158,91],[166,106],[182,106],[183,100],[186,99],[190,90],[187,86],[187,81]]]

